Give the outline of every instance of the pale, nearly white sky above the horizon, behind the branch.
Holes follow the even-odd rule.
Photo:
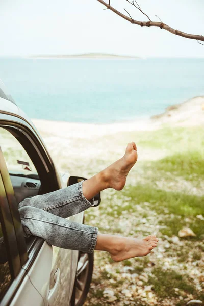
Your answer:
[[[204,35],[203,0],[138,0],[150,19],[155,15],[175,29]],[[136,20],[146,17],[126,0],[113,7]],[[196,40],[160,28],[131,24],[97,0],[0,0],[0,56],[110,53],[140,57],[204,57]],[[126,13],[125,13],[126,14]]]

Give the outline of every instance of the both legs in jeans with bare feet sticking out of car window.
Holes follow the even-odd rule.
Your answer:
[[[107,188],[121,190],[127,174],[137,161],[134,142],[127,144],[124,156],[90,179],[49,194],[25,199],[19,204],[25,236],[36,235],[49,244],[92,252],[108,251],[114,261],[145,256],[157,246],[158,238],[143,239],[98,233],[97,227],[74,223],[65,218],[93,205],[93,197]],[[52,214],[52,216],[50,215]]]

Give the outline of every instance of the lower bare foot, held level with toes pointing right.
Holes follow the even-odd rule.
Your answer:
[[[109,251],[111,258],[122,261],[132,257],[146,256],[157,246],[159,239],[155,235],[149,235],[143,239],[116,236],[116,247]]]

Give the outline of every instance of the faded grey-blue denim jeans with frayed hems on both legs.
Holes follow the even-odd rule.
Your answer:
[[[25,237],[39,236],[50,245],[92,253],[98,228],[66,219],[94,205],[94,199],[88,201],[84,197],[82,185],[83,181],[20,202],[18,208]]]

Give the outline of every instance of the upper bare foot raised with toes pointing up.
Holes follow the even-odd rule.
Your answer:
[[[127,174],[137,161],[137,147],[135,142],[127,144],[124,156],[103,170],[103,175],[109,188],[121,190],[126,182]]]

